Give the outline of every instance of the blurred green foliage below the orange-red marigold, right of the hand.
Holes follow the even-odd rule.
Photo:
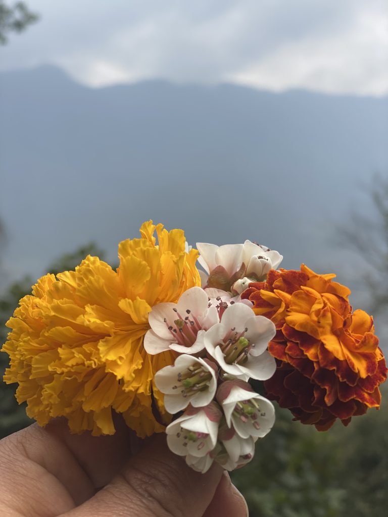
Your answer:
[[[379,411],[325,433],[277,408],[252,462],[232,474],[251,517],[367,517],[388,505],[388,391]]]

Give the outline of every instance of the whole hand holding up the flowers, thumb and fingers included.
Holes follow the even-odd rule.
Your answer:
[[[246,517],[214,464],[194,472],[165,435],[140,442],[122,420],[114,436],[72,435],[66,421],[33,424],[0,441],[3,517]],[[136,451],[134,449],[137,449]]]

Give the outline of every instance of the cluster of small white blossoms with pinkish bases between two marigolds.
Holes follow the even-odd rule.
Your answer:
[[[239,294],[249,282],[263,280],[282,257],[250,241],[197,247],[208,273],[204,287],[191,287],[177,303],[154,306],[144,347],[149,354],[177,354],[172,366],[155,375],[167,411],[183,412],[166,429],[169,448],[200,472],[214,461],[233,470],[251,460],[256,440],[275,421],[272,403],[248,383],[275,372],[267,351],[275,325],[255,315]]]

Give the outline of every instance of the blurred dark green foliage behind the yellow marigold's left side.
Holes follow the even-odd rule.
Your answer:
[[[58,272],[74,269],[86,255],[104,256],[101,250],[93,242],[78,248],[73,253],[66,253],[58,258],[48,267],[48,272],[54,275]],[[14,309],[18,307],[19,300],[31,294],[31,286],[35,283],[29,276],[24,277],[18,282],[12,283],[7,291],[0,298],[0,342],[4,343],[7,339],[8,329],[5,326]],[[4,370],[8,366],[8,356],[0,353],[0,378],[3,377]],[[0,438],[18,431],[26,425],[32,423],[25,413],[25,404],[19,405],[14,397],[16,385],[6,385],[0,381]]]

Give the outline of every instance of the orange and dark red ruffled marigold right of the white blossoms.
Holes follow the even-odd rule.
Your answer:
[[[276,326],[268,345],[277,360],[274,376],[264,383],[268,398],[320,431],[336,418],[347,425],[352,416],[379,408],[379,385],[387,374],[373,318],[352,312],[350,290],[334,277],[305,265],[300,271],[271,270],[242,295]]]

